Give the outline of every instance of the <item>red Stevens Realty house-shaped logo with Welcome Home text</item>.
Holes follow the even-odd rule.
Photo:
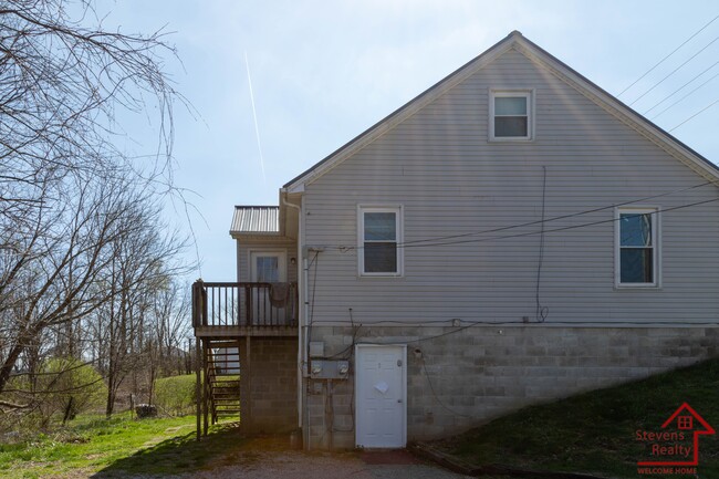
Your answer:
[[[639,473],[696,473],[699,436],[715,434],[687,403],[661,425],[660,430],[637,430],[636,440],[646,442],[650,459],[637,462]]]

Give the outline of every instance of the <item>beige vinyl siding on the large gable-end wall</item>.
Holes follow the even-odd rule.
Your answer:
[[[534,140],[488,142],[489,88],[502,87],[533,88]],[[309,274],[312,321],[347,322],[350,308],[363,324],[534,321],[540,236],[408,246],[402,278],[359,278],[353,248],[361,204],[403,205],[409,243],[538,221],[544,168],[546,218],[706,181],[510,51],[306,186],[305,241],[324,247]],[[637,205],[667,209],[718,196],[706,186]],[[613,218],[608,208],[545,223],[540,298],[548,324],[719,320],[719,201],[661,214],[658,289],[615,289]],[[595,221],[606,222],[551,232]]]

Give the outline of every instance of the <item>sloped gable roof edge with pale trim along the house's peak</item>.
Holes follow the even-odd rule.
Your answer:
[[[544,51],[535,43],[527,40],[519,31],[511,32],[507,38],[496,43],[484,53],[480,54],[469,63],[456,70],[449,76],[436,83],[429,90],[419,94],[417,97],[405,104],[384,119],[340,147],[334,153],[312,166],[310,169],[291,179],[283,186],[288,192],[302,192],[306,184],[311,184],[334,166],[341,164],[344,159],[352,156],[366,145],[371,144],[383,134],[394,128],[399,123],[407,119],[418,110],[428,105],[455,85],[463,82],[466,79],[477,73],[479,70],[494,61],[509,50],[514,49],[529,58],[530,60],[549,69],[555,76],[577,90],[582,95],[596,103],[600,107],[617,117],[624,124],[636,129],[650,142],[657,144],[660,148],[685,163],[697,174],[709,180],[719,180],[719,166],[709,162],[694,149],[661,129],[647,118],[625,105],[623,102],[592,83],[590,80]]]

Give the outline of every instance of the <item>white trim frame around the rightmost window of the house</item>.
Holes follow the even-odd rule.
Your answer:
[[[658,289],[661,288],[661,209],[656,206],[632,206],[614,209],[614,287],[617,289]],[[652,283],[623,283],[622,282],[622,214],[652,215],[652,268],[654,282]]]

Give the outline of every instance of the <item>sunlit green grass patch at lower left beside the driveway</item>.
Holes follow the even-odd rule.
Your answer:
[[[0,445],[0,477],[60,478],[72,472],[125,477],[133,472],[179,473],[226,464],[243,438],[218,425],[195,440],[195,417],[129,419],[80,417],[72,426],[20,444]]]

